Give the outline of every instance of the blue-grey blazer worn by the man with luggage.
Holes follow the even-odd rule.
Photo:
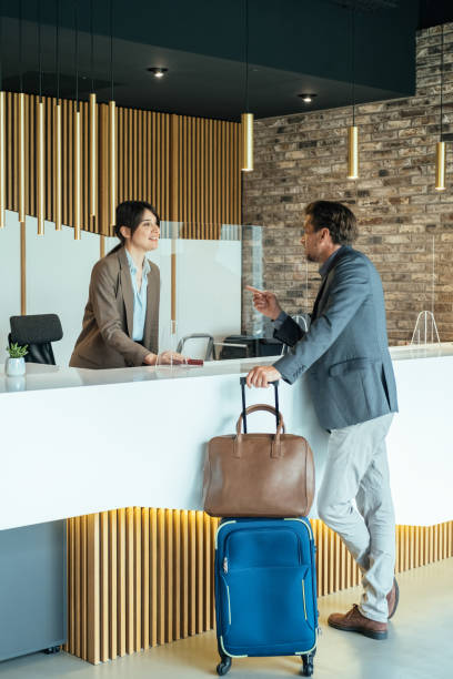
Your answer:
[[[309,332],[286,314],[279,321],[274,337],[293,348],[274,365],[290,384],[306,373],[322,427],[397,411],[382,283],[364,254],[343,246],[332,257]]]

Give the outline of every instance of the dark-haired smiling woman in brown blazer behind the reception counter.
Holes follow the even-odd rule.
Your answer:
[[[147,252],[159,245],[159,215],[144,201],[117,207],[115,235],[120,239],[91,273],[82,332],[69,365],[113,368],[155,365],[159,352],[159,267]],[[165,352],[160,363],[181,363]]]

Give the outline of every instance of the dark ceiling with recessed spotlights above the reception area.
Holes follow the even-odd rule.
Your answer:
[[[110,0],[22,0],[23,90],[39,90],[41,24],[41,91],[56,95],[57,4],[60,94],[76,97],[77,34],[79,97],[87,98],[93,75],[98,100],[108,101]],[[245,0],[112,0],[118,105],[239,120],[246,74],[258,118],[345,105],[353,97],[406,97],[415,87],[416,29],[453,20],[451,0],[249,0],[246,71],[244,7]],[[20,89],[19,10],[19,1],[3,2],[3,87],[12,91]],[[149,67],[168,73],[158,80]],[[316,98],[308,105],[301,92]]]

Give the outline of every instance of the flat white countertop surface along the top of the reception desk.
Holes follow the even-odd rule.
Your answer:
[[[394,346],[390,348],[393,361],[414,361],[453,356],[453,343],[441,345]],[[274,363],[279,356],[243,358],[232,361],[209,361],[203,366],[141,366],[90,371],[85,368],[60,367],[54,365],[27,364],[22,377],[8,377],[0,366],[0,395],[13,392],[61,389],[81,386],[102,386],[134,382],[162,379],[187,379],[188,377],[215,377],[221,375],[244,375],[254,365]]]

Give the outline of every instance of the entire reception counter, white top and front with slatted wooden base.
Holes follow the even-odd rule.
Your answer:
[[[453,345],[391,353],[400,414],[387,444],[402,570],[453,554]],[[69,519],[70,652],[99,662],[212,628],[217,519],[201,511],[205,443],[234,432],[239,376],[272,361],[0,372],[0,529]],[[272,403],[273,392],[248,395],[249,404]],[[319,486],[328,433],[305,379],[282,383],[280,405],[288,430],[313,448]],[[259,413],[250,429],[273,424]],[[319,594],[356,584],[315,505],[312,519]]]

